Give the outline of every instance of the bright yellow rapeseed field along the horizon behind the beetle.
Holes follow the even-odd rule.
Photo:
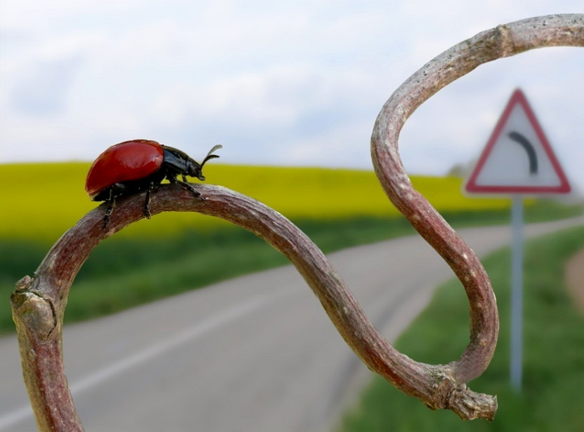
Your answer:
[[[89,163],[0,165],[1,238],[52,243],[98,203],[85,194]],[[373,171],[266,166],[205,167],[207,182],[220,184],[270,205],[291,220],[331,220],[398,215]],[[463,196],[457,177],[413,176],[414,187],[442,211],[493,210],[509,207],[506,199]],[[160,236],[191,227],[225,224],[190,213],[162,214],[121,231],[121,236]]]

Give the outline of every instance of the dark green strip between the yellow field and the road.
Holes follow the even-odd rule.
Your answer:
[[[548,218],[548,203],[534,203],[526,219]],[[544,210],[542,210],[542,208]],[[555,217],[580,212],[557,208]],[[507,223],[508,210],[451,212],[455,227]],[[150,221],[146,221],[148,223]],[[296,220],[325,253],[354,245],[414,234],[401,217]],[[0,296],[8,299],[15,281],[32,276],[46,255],[44,245],[27,241],[0,242]],[[69,294],[65,320],[86,320],[138,304],[200,288],[252,271],[287,264],[264,241],[237,227],[184,230],[180,235],[142,239],[114,236],[98,245],[81,268]],[[0,333],[14,329],[8,302],[0,302]]]

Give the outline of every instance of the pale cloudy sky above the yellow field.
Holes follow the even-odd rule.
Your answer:
[[[496,25],[581,13],[581,0],[1,0],[0,163],[92,161],[134,138],[195,160],[371,169],[385,100],[413,72]],[[475,69],[406,122],[409,173],[479,157],[524,90],[584,190],[584,49]]]

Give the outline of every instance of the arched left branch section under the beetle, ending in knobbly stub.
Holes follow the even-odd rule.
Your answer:
[[[292,222],[272,208],[230,189],[212,185],[197,185],[197,188],[205,201],[194,199],[179,185],[161,186],[152,194],[152,215],[163,211],[194,211],[248,229],[293,262],[347,344],[372,370],[432,407],[442,407],[447,396],[456,389],[464,389],[449,379],[449,367],[416,363],[395,350],[373,327],[321,250]],[[95,245],[143,217],[143,200],[143,194],[119,200],[107,229],[102,228],[105,204],[89,212],[55,243],[35,276],[20,281],[12,295],[25,381],[41,431],[82,430],[62,369],[62,318],[69,287]],[[451,385],[445,386],[445,382]],[[443,391],[438,391],[439,387]],[[437,398],[441,401],[438,404]],[[462,404],[460,410],[468,405],[487,405],[486,411],[494,412],[494,400],[489,396],[462,391],[457,398],[453,406]],[[469,402],[474,399],[479,402]],[[475,412],[467,417],[475,417]],[[58,427],[53,428],[55,425]]]

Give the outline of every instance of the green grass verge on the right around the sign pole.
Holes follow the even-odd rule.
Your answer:
[[[449,411],[432,412],[381,378],[373,380],[359,406],[346,414],[343,431],[582,431],[584,318],[564,285],[564,262],[584,246],[584,227],[529,241],[524,275],[524,388],[509,384],[510,252],[484,260],[496,290],[499,342],[489,369],[470,385],[496,394],[492,424],[461,421]],[[458,281],[437,290],[430,306],[397,341],[416,360],[446,363],[458,358],[468,338],[467,300]]]

